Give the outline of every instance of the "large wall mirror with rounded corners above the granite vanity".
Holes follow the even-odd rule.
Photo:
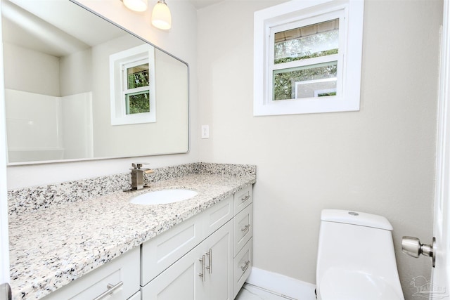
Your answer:
[[[65,0],[1,0],[8,163],[188,152],[188,65]]]

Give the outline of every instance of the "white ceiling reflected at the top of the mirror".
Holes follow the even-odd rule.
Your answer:
[[[1,5],[3,26],[8,29],[3,32],[3,41],[9,44],[61,57],[124,34],[120,28],[93,13],[86,13],[84,8],[70,1],[14,2],[3,1]],[[76,20],[77,26],[68,20]],[[89,27],[96,30],[89,30]]]

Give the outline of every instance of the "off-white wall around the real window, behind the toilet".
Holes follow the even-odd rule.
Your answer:
[[[432,239],[442,1],[366,0],[359,112],[253,117],[253,13],[276,3],[198,12],[200,124],[210,125],[200,158],[257,165],[257,268],[314,283],[321,209],[381,214],[411,299],[431,262],[401,254],[400,242]]]

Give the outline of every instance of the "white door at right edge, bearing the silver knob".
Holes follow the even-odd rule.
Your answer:
[[[450,299],[450,4],[444,0],[439,115],[437,136],[437,176],[435,194],[435,268],[432,269],[430,299]]]

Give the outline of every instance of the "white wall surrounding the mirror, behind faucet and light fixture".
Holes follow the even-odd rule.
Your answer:
[[[196,11],[188,1],[172,1],[169,4],[172,12],[172,29],[165,32],[150,25],[150,10],[146,13],[134,13],[116,0],[81,0],[88,6],[110,20],[148,39],[164,48],[174,56],[186,61],[190,67],[190,111],[191,111],[191,145],[190,152],[182,155],[162,155],[154,157],[136,157],[124,159],[103,159],[87,162],[70,162],[57,164],[38,164],[31,166],[8,167],[8,189],[25,186],[58,183],[79,178],[103,176],[127,172],[131,162],[148,162],[150,167],[163,167],[188,162],[198,162],[197,142],[197,55],[196,55]],[[148,1],[153,7],[157,1]]]

